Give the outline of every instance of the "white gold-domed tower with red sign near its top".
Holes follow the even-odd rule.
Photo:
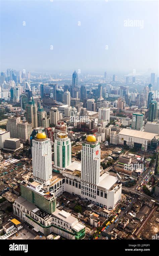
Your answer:
[[[88,135],[81,151],[81,197],[96,202],[100,179],[100,143],[94,135]]]

